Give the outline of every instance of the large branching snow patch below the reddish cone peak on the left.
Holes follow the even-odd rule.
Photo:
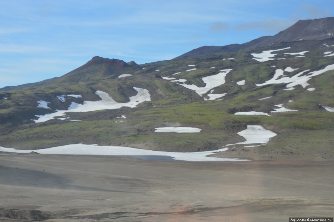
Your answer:
[[[67,110],[57,109],[55,113],[45,115],[35,115],[38,117],[35,123],[41,123],[48,120],[52,120],[54,117],[65,117],[66,112],[90,112],[101,109],[117,109],[122,106],[136,107],[139,103],[144,101],[151,101],[151,95],[147,89],[133,87],[138,93],[137,95],[131,96],[129,102],[119,103],[116,102],[108,93],[97,90],[95,94],[100,96],[102,100],[98,101],[84,101],[83,104],[72,102]]]

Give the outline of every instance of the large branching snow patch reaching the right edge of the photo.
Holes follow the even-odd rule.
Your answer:
[[[312,72],[309,72],[308,74],[304,74],[304,73],[310,71],[310,69],[301,71],[291,77],[288,77],[288,76],[282,77],[282,75],[284,75],[284,71],[282,69],[276,69],[276,72],[272,79],[269,79],[264,83],[255,84],[255,85],[263,86],[263,85],[268,85],[268,84],[288,83],[286,86],[287,89],[285,90],[291,90],[291,88],[294,88],[293,86],[296,86],[296,85],[301,85],[303,88],[305,88],[306,86],[309,85],[309,83],[307,82],[308,80],[310,80],[314,76],[320,75],[329,70],[334,70],[334,64],[327,65],[323,69],[312,71]]]

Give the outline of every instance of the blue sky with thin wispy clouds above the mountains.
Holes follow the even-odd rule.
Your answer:
[[[94,56],[169,60],[333,15],[332,0],[2,0],[0,88],[62,76]]]

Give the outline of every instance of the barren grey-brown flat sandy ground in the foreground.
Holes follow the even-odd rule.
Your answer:
[[[1,221],[272,222],[333,212],[334,161],[0,153]]]

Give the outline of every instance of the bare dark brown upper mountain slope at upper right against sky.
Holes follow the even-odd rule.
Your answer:
[[[255,49],[275,45],[280,42],[302,40],[322,40],[334,36],[334,17],[299,20],[294,25],[277,33],[274,36],[263,36],[243,44],[225,46],[201,46],[186,52],[174,59],[190,58],[199,55],[209,55],[218,52],[236,52],[239,50]]]

